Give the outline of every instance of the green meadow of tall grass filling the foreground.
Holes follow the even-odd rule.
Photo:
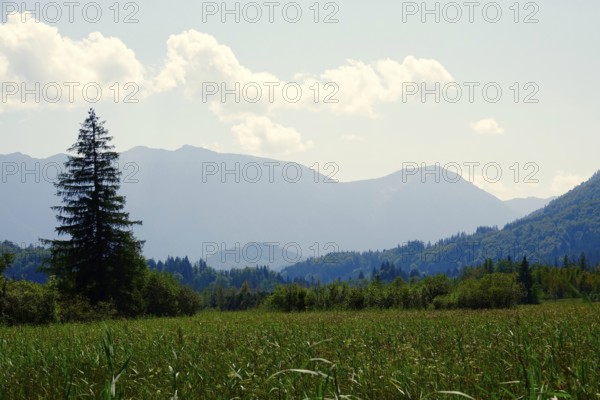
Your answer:
[[[468,398],[446,391],[600,399],[600,305],[0,328],[2,399]]]

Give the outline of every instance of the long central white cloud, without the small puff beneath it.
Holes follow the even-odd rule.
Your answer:
[[[152,87],[160,92],[183,86],[188,96],[199,96],[210,103],[225,103],[214,108],[223,118],[246,112],[270,114],[276,109],[290,108],[375,117],[377,103],[400,99],[403,83],[451,80],[450,73],[436,60],[408,56],[402,63],[390,59],[372,63],[348,60],[320,75],[296,74],[293,82],[287,82],[268,72],[251,71],[241,65],[228,46],[213,36],[188,30],[172,35],[167,41],[167,58]],[[204,89],[213,83],[225,84],[230,90],[239,85],[240,101],[235,101],[232,95],[225,101],[219,95],[203,97]],[[290,97],[295,97],[300,88],[297,101],[286,99],[286,85]],[[245,87],[249,89],[247,96],[243,92]],[[255,87],[261,88],[262,95],[253,103],[249,99],[255,98]],[[223,90],[218,89],[222,94]]]

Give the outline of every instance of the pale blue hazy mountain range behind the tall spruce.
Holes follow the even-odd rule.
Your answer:
[[[29,244],[54,237],[50,207],[59,199],[52,182],[65,159],[0,156],[0,239]],[[296,163],[190,146],[137,147],[122,153],[120,164],[127,211],[144,223],[136,229],[146,240],[144,254],[188,255],[217,267],[280,268],[332,251],[436,241],[482,225],[502,227],[546,202],[503,202],[442,169],[335,183],[326,176],[335,172],[332,165],[319,174]]]

